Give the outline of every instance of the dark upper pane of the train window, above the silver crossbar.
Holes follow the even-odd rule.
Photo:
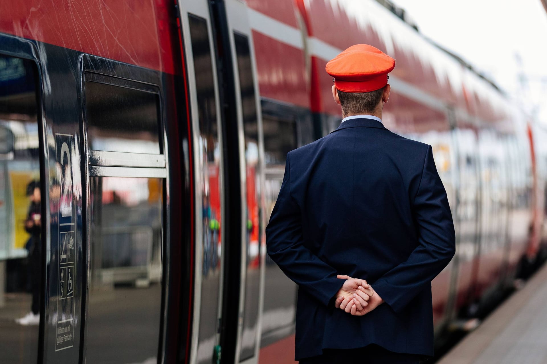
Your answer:
[[[85,81],[89,148],[159,154],[158,94]]]

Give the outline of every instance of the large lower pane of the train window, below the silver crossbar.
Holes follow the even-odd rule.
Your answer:
[[[163,182],[90,178],[88,363],[155,362],[158,355]]]

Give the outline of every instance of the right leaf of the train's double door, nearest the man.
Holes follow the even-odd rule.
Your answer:
[[[222,4],[222,3],[219,3]],[[258,82],[255,77],[256,64],[254,58],[253,38],[248,22],[248,12],[245,3],[237,0],[224,2],[226,21],[219,29],[224,34],[225,49],[231,51],[231,71],[234,74],[235,105],[237,123],[228,127],[238,130],[238,150],[240,152],[241,171],[241,220],[243,222],[240,240],[240,259],[232,254],[233,264],[230,282],[233,290],[225,291],[225,301],[232,302],[232,294],[238,288],[238,307],[226,305],[225,316],[237,318],[229,326],[226,321],[224,343],[234,352],[226,350],[225,362],[257,363],[260,349],[260,312],[261,297],[263,297],[263,266],[265,251],[261,246],[265,243],[264,219],[264,146],[261,124],[260,104],[258,102]],[[217,11],[221,10],[217,8]],[[218,11],[222,17],[222,11]],[[224,22],[219,19],[219,24]],[[229,47],[228,47],[229,45]],[[225,68],[228,71],[227,68]],[[235,147],[235,145],[234,145]],[[237,250],[235,250],[237,251]],[[235,268],[235,269],[234,269]],[[237,272],[239,270],[239,272]],[[235,339],[235,342],[234,342]]]

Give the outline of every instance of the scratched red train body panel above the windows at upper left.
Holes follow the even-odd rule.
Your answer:
[[[172,14],[168,1],[4,3],[0,31],[174,74]]]

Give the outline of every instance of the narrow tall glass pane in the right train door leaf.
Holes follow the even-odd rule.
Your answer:
[[[245,165],[247,171],[247,273],[245,279],[245,302],[243,331],[241,332],[240,360],[254,355],[258,319],[260,285],[260,160],[258,142],[257,99],[254,92],[253,67],[249,40],[245,35],[234,33],[239,74],[241,106],[243,112],[243,134],[245,136]]]

